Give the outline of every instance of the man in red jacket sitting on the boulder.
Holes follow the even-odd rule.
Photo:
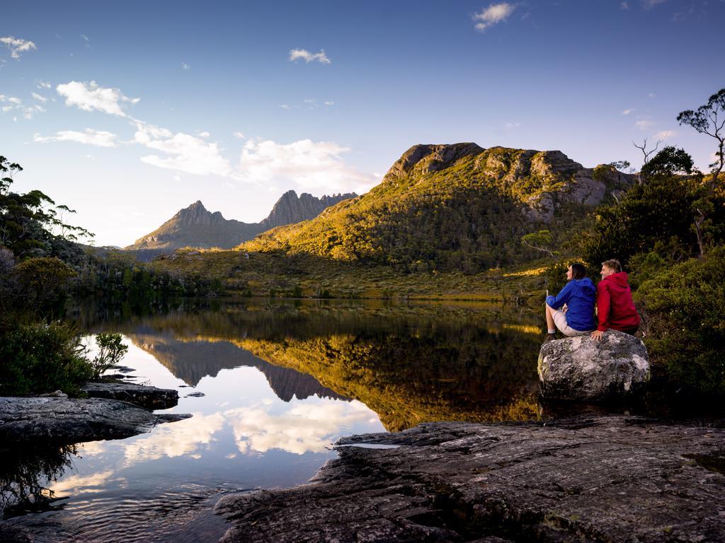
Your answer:
[[[592,340],[599,341],[608,329],[634,334],[639,329],[639,313],[634,307],[627,284],[626,271],[618,260],[602,262],[602,280],[597,285],[597,315],[599,327]]]

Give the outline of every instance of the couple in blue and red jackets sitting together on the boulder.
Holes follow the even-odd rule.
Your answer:
[[[591,333],[595,341],[601,340],[608,329],[637,332],[639,314],[622,265],[618,260],[602,262],[601,273],[602,280],[595,287],[583,264],[569,266],[568,283],[558,295],[546,298],[547,341],[556,339],[556,329],[565,336]]]

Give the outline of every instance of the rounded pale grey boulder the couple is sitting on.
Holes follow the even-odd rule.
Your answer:
[[[589,334],[554,340],[539,351],[542,395],[552,400],[601,401],[631,395],[650,380],[642,340],[608,330],[596,342]]]

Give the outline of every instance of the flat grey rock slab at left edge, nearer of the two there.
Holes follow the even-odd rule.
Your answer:
[[[0,443],[118,439],[190,416],[156,415],[130,403],[101,398],[0,397]]]

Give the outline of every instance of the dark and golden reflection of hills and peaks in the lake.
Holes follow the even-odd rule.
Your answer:
[[[354,398],[389,430],[539,418],[537,323],[490,307],[250,301],[116,322],[79,316],[91,332],[127,335],[188,384],[253,366],[283,400]]]

